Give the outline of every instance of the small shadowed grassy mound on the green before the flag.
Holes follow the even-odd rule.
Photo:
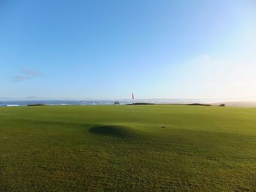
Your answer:
[[[128,126],[94,126],[90,128],[89,131],[94,134],[102,134],[113,137],[134,137],[136,135],[135,131]]]

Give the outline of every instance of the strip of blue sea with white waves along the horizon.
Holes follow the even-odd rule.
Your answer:
[[[116,99],[116,100],[84,100],[84,101],[72,101],[72,100],[23,100],[23,101],[0,101],[0,107],[20,107],[28,104],[46,104],[46,105],[113,105],[115,101],[119,101],[120,104],[132,104],[132,102],[143,102],[152,104],[211,104],[221,102],[223,100],[218,99]]]

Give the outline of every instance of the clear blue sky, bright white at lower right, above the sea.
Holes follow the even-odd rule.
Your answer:
[[[256,99],[255,0],[0,0],[0,99]]]

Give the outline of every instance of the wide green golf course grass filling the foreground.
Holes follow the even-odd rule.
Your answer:
[[[256,191],[256,108],[0,107],[0,191]]]

